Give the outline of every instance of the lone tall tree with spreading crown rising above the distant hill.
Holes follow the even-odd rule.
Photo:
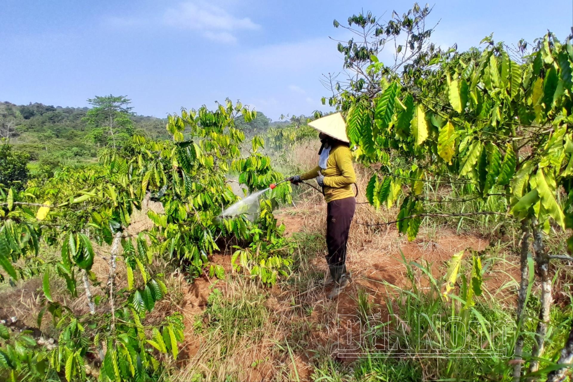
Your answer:
[[[106,128],[111,137],[113,148],[116,148],[117,132],[127,133],[133,131],[133,121],[131,116],[134,114],[129,106],[131,100],[127,96],[109,96],[88,99],[88,102],[93,106],[87,112],[85,120],[89,127],[92,128]],[[124,136],[122,134],[122,136]]]

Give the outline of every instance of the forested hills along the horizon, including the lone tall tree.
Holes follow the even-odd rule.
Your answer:
[[[121,145],[137,133],[151,139],[168,138],[167,119],[137,115],[125,96],[103,96],[88,100],[92,107],[60,107],[42,103],[15,105],[0,102],[0,139],[16,151],[28,153],[32,170],[73,166],[92,162],[107,145]],[[235,124],[247,136],[285,127],[305,116],[272,121],[262,112],[246,123]]]

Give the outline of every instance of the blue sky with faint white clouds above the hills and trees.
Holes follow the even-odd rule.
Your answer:
[[[342,68],[334,29],[361,9],[384,19],[403,1],[26,1],[0,7],[0,101],[85,106],[127,94],[135,111],[164,117],[225,97],[272,119],[327,108],[321,74]],[[494,39],[571,33],[571,0],[441,1],[433,41],[459,48]],[[382,58],[383,59],[383,58]]]

